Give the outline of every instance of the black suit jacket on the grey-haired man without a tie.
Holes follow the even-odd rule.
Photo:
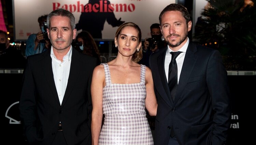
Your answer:
[[[50,145],[61,121],[68,145],[86,144],[91,138],[90,83],[96,58],[72,49],[68,84],[60,105],[50,52],[27,58],[19,102],[25,136],[30,144]]]

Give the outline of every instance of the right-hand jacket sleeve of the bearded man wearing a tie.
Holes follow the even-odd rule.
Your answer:
[[[215,112],[210,141],[212,145],[222,145],[226,141],[227,130],[230,125],[230,100],[227,84],[227,71],[222,63],[221,54],[214,50],[207,66],[207,85]]]

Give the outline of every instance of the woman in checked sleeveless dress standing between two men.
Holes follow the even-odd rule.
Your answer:
[[[137,63],[142,58],[139,26],[131,22],[121,25],[115,47],[117,57],[93,72],[93,145],[153,145],[145,107],[155,116],[157,102],[151,70]]]

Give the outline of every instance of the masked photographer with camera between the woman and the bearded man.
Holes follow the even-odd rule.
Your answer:
[[[151,38],[146,38],[143,43],[142,49],[142,59],[138,62],[139,64],[144,64],[149,66],[149,57],[153,52],[158,52],[159,49],[167,46],[167,44],[162,41],[162,33],[160,30],[160,24],[152,24],[150,26]]]

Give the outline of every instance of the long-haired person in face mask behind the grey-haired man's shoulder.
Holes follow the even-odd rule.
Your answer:
[[[100,52],[96,42],[88,31],[82,31],[76,36],[76,43],[78,45],[75,48],[86,55],[96,57],[97,63],[100,64]],[[80,44],[79,44],[80,43]],[[79,48],[78,48],[79,46]]]

